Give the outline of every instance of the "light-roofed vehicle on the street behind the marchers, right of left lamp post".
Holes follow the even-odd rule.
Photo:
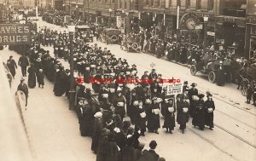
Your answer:
[[[84,40],[84,42],[93,43],[93,31],[92,26],[76,26],[76,37]]]

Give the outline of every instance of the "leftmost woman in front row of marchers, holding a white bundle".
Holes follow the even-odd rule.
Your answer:
[[[136,106],[134,110],[136,111],[135,130],[140,130],[141,135],[145,136],[147,114],[146,109],[143,106],[143,101],[138,101],[138,106]]]

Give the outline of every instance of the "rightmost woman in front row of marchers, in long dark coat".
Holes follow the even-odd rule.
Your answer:
[[[212,130],[214,127],[213,124],[213,112],[215,110],[214,101],[212,101],[212,94],[207,92],[207,101],[205,101],[205,108],[206,108],[206,114],[205,114],[205,124],[209,126],[209,128]]]

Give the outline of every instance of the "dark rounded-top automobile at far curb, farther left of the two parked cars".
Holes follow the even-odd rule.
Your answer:
[[[119,43],[119,35],[121,32],[118,29],[106,28],[102,31],[99,40],[104,43]]]

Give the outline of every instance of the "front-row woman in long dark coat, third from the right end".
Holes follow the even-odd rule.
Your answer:
[[[181,101],[177,101],[177,124],[180,124],[179,129],[184,133],[186,124],[189,121],[189,112],[185,109],[189,109],[189,103],[185,100],[184,96],[180,96]]]

